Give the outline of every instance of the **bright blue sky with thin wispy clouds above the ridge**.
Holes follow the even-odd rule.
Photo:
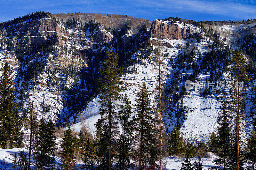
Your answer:
[[[256,18],[256,0],[0,0],[0,22],[36,11],[127,14],[150,20],[169,16],[241,20]]]

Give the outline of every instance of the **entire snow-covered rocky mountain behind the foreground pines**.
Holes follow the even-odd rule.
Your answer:
[[[4,62],[11,65],[20,114],[29,115],[35,70],[34,110],[37,117],[53,119],[64,127],[74,124],[73,129],[79,132],[79,116],[83,115],[93,134],[94,124],[100,118],[100,92],[95,89],[98,69],[105,51],[111,46],[126,70],[121,78],[127,85],[125,93],[132,106],[136,104],[138,86],[146,82],[152,107],[156,108],[158,65],[154,51],[160,35],[161,70],[165,73],[163,121],[166,132],[171,132],[178,125],[185,139],[195,143],[206,141],[215,131],[222,103],[230,100],[232,92],[227,87],[219,91],[217,86],[208,92],[205,90],[207,81],[205,89],[200,89],[199,85],[206,79],[215,82],[229,80],[230,76],[223,68],[227,66],[226,61],[233,50],[228,48],[228,42],[234,37],[224,41],[223,37],[198,25],[173,19],[156,19],[150,22],[150,27],[145,21],[134,24],[135,21],[128,22],[125,17],[123,20],[125,22],[116,28],[108,28],[97,20],[58,15],[56,18],[31,16],[5,24],[0,30],[0,42],[3,44],[1,67]],[[224,28],[233,26],[215,29],[221,31]],[[216,38],[218,41],[214,41]],[[184,89],[187,79],[193,79],[198,85],[195,90]],[[243,120],[244,139],[250,129],[251,106],[252,111],[255,108],[252,100],[246,102],[249,105],[246,105]]]

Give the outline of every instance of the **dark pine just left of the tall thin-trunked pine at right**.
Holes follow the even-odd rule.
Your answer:
[[[223,169],[227,169],[228,159],[231,150],[231,138],[232,134],[230,129],[231,127],[231,117],[228,114],[226,104],[222,105],[222,111],[217,118],[218,123],[218,134],[215,140],[216,146],[218,146],[218,159],[214,159],[214,164],[216,168],[223,166]]]

